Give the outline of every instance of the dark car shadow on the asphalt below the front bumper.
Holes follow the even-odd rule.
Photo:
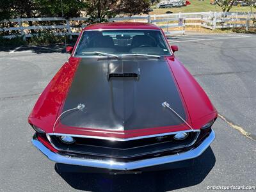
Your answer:
[[[56,172],[72,187],[84,191],[171,191],[200,184],[216,162],[211,147],[188,168],[141,174],[110,175],[108,173]]]

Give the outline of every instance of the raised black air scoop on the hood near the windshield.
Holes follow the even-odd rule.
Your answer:
[[[107,79],[111,77],[140,77],[140,67],[138,61],[112,61],[108,65]]]

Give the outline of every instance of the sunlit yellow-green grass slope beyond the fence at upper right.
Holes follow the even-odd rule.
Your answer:
[[[221,12],[221,7],[217,4],[210,4],[210,1],[198,1],[198,0],[189,0],[191,4],[188,6],[183,6],[180,8],[154,8],[156,5],[152,6],[153,12],[150,12],[150,15],[154,14],[164,14],[167,11],[173,13],[179,12]],[[233,6],[230,12],[250,12],[250,6]],[[253,12],[256,12],[256,9],[253,8]]]

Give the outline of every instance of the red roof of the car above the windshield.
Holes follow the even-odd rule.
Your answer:
[[[83,31],[87,30],[97,30],[97,29],[151,29],[151,30],[161,30],[154,24],[148,24],[143,22],[104,22],[99,24],[92,24],[86,26]]]

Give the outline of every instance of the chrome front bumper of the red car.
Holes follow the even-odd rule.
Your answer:
[[[198,147],[193,148],[192,150],[189,150],[187,152],[175,154],[172,156],[154,157],[151,159],[132,161],[129,163],[106,161],[102,159],[87,159],[87,158],[63,156],[61,154],[57,154],[49,150],[49,148],[45,147],[42,143],[40,143],[40,141],[38,141],[36,137],[33,137],[32,143],[45,156],[47,156],[52,161],[55,161],[56,163],[89,166],[93,168],[106,168],[109,170],[135,170],[135,169],[145,168],[148,166],[157,166],[159,164],[174,163],[177,161],[184,161],[184,160],[198,157],[209,147],[209,145],[212,143],[214,138],[215,138],[215,133],[212,130],[211,134],[207,138],[205,138],[205,140]]]

